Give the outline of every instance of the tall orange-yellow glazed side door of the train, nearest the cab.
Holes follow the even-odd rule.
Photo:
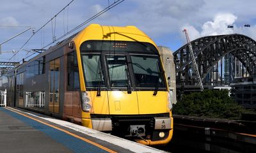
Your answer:
[[[50,101],[49,112],[59,113],[60,110],[60,58],[50,62]]]

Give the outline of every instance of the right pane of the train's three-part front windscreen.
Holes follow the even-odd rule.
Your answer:
[[[158,57],[132,55],[131,59],[137,87],[165,87]]]

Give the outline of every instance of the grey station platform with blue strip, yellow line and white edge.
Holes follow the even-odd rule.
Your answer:
[[[64,120],[0,107],[0,152],[163,152]]]

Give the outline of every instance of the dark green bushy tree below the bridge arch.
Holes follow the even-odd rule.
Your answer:
[[[173,113],[197,117],[241,119],[244,108],[228,96],[228,91],[204,90],[182,96]]]

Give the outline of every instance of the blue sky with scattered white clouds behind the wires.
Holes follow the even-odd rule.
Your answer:
[[[71,0],[1,0],[0,43],[31,26],[38,30]],[[52,24],[46,25],[27,45],[20,47],[32,31],[20,35],[2,45],[3,51],[19,51],[0,55],[0,61],[20,61],[31,54],[26,50],[42,48],[52,41],[52,29],[58,38],[67,30],[113,3],[113,0],[75,0],[61,12]],[[182,29],[188,29],[191,40],[201,36],[241,33],[256,40],[256,2],[253,0],[125,0],[90,23],[102,25],[135,25],[144,31],[157,45],[175,51],[186,42]],[[243,27],[250,24],[251,27]],[[88,24],[87,24],[88,25]],[[227,29],[234,25],[234,29]],[[86,27],[86,25],[84,25]],[[81,30],[81,29],[80,29]],[[52,44],[54,45],[54,44]],[[10,59],[12,57],[12,59]]]

